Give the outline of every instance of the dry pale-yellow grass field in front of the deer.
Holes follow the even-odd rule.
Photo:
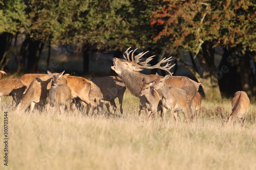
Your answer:
[[[11,110],[10,97],[1,102],[0,169],[256,169],[255,104],[244,128],[223,128],[220,113],[231,113],[231,99],[203,100],[198,122],[189,124],[162,123],[159,116],[147,122],[145,115],[138,116],[139,101],[128,90],[124,114],[116,116],[19,113]],[[8,167],[3,161],[5,111]]]

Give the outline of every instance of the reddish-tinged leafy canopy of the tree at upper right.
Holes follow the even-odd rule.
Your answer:
[[[151,25],[162,27],[154,39],[168,38],[169,49],[183,46],[197,52],[204,41],[211,41],[222,47],[243,44],[256,50],[256,4],[252,0],[164,2],[153,12]]]

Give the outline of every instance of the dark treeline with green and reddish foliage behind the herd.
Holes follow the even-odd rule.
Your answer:
[[[132,46],[149,50],[148,56],[173,56],[203,82],[208,99],[244,90],[253,100],[255,11],[253,0],[0,0],[0,66],[12,56],[17,72],[36,72],[44,47],[75,44],[86,74],[90,51],[121,57]],[[216,47],[224,50],[219,65]],[[191,64],[179,57],[183,51]]]

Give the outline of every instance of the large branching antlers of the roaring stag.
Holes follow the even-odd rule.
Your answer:
[[[170,75],[173,75],[173,72],[170,72],[170,68],[172,68],[173,66],[175,66],[175,64],[172,65],[172,63],[168,63],[169,61],[172,61],[173,59],[171,59],[172,57],[169,57],[169,58],[163,58],[161,61],[159,61],[156,65],[153,65],[151,66],[150,64],[148,64],[148,62],[150,62],[151,60],[153,60],[153,58],[155,56],[151,56],[151,57],[148,57],[145,61],[141,62],[141,57],[144,56],[147,52],[143,53],[139,53],[138,55],[136,55],[135,57],[133,56],[134,55],[134,52],[138,49],[136,48],[134,51],[131,50],[130,52],[128,52],[130,50],[131,47],[127,48],[127,50],[125,51],[125,54],[126,54],[126,57],[123,55],[124,59],[125,60],[128,60],[128,61],[131,61],[133,63],[133,65],[139,67],[139,68],[147,68],[147,69],[153,69],[153,68],[159,68],[159,69],[162,69],[162,70],[165,70],[167,71]],[[133,52],[133,53],[132,53]],[[131,56],[131,60],[129,58],[130,54],[132,53],[132,56]],[[166,63],[166,65],[164,66],[161,66],[162,63]],[[140,65],[142,64],[142,65]]]

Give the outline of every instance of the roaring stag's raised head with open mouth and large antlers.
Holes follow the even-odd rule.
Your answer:
[[[131,48],[131,47],[130,47]],[[162,63],[165,62],[169,62],[172,59],[170,59],[171,57],[167,58],[167,59],[162,59],[159,63],[157,63],[156,65],[151,66],[149,64],[149,62],[151,60],[153,60],[153,58],[155,56],[151,56],[148,57],[145,61],[141,61],[142,57],[148,52],[141,52],[138,55],[134,56],[135,51],[137,50],[137,48],[133,51],[129,51],[130,48],[127,48],[127,50],[125,51],[123,57],[124,59],[119,59],[119,58],[113,58],[113,63],[114,66],[111,66],[111,68],[116,71],[116,73],[118,75],[121,75],[124,71],[141,71],[144,68],[147,69],[153,69],[153,68],[159,68],[159,69],[163,69],[169,72],[169,74],[172,74],[170,72],[170,68],[172,68],[174,65],[170,66],[171,63],[167,63],[164,66],[160,66]],[[131,57],[130,57],[131,55]]]

